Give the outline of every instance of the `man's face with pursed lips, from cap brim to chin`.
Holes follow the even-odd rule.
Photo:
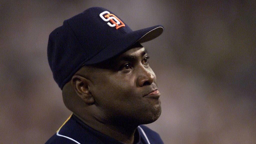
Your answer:
[[[92,67],[89,90],[95,99],[97,116],[114,124],[148,124],[161,114],[156,76],[148,65],[144,47]]]

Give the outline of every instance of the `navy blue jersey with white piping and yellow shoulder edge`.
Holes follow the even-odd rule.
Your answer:
[[[136,144],[163,144],[158,133],[146,126],[138,126],[134,143]],[[123,144],[84,124],[76,116],[71,117],[45,144]]]

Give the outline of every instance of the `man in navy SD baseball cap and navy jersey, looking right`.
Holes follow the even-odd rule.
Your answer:
[[[132,31],[107,9],[92,7],[49,36],[48,61],[73,112],[46,143],[163,143],[143,126],[161,114],[156,76],[141,43],[161,25]]]

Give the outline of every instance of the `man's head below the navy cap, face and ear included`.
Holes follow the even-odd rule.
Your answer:
[[[65,104],[77,115],[93,115],[103,123],[140,125],[157,120],[160,94],[148,58],[147,50],[135,45],[110,60],[83,66],[63,88]],[[65,99],[70,90],[82,108],[76,106],[78,101]]]

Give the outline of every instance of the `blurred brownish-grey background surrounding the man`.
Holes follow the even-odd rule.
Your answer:
[[[148,127],[165,144],[256,143],[256,1],[0,1],[0,143],[45,143],[71,112],[47,61],[48,36],[101,6],[138,30],[161,92]]]

